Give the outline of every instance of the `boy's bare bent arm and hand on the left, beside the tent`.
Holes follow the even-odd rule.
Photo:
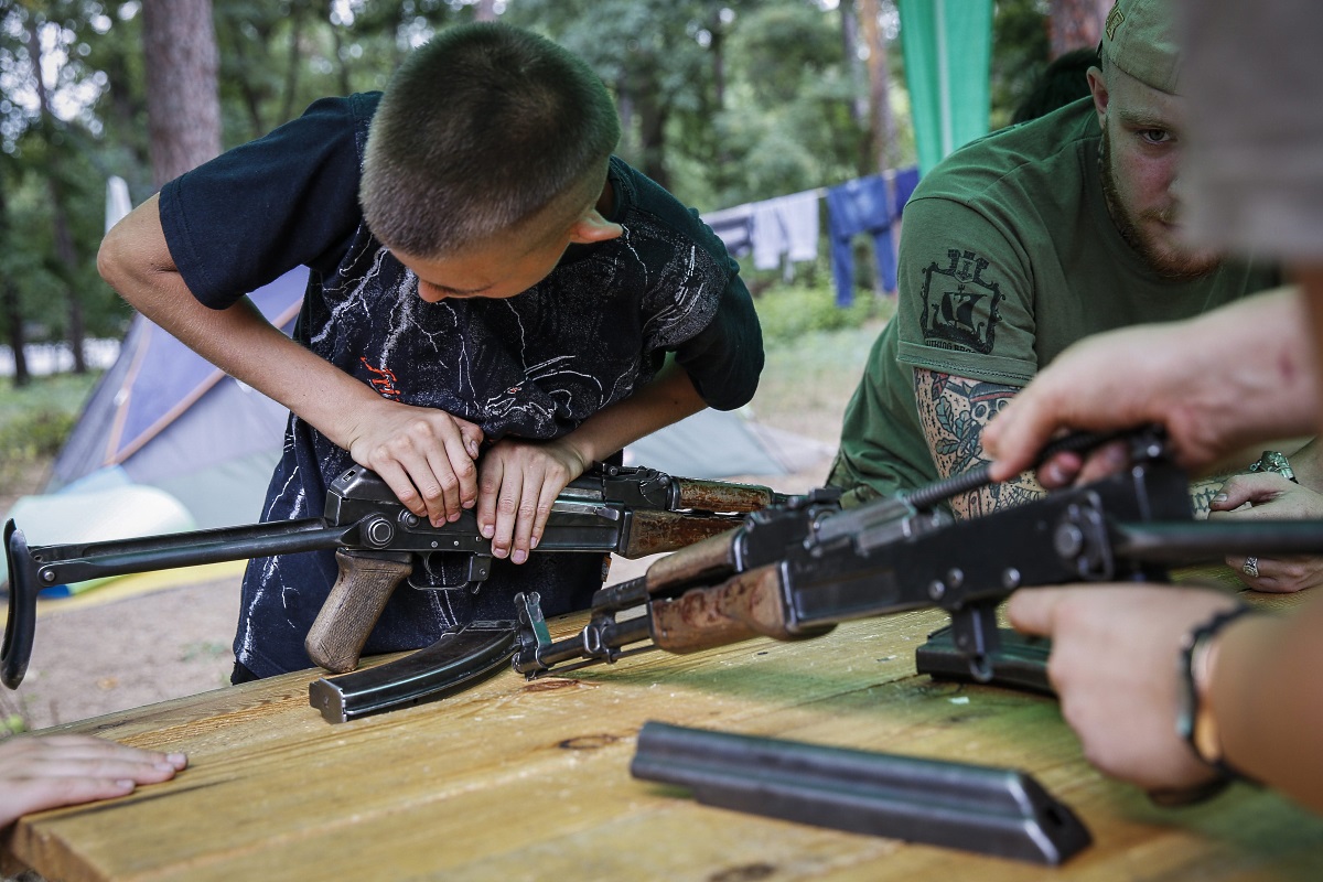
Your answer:
[[[246,298],[228,309],[198,303],[171,257],[156,196],[106,235],[97,267],[144,316],[374,469],[413,513],[442,524],[474,505],[482,430],[381,398],[286,337]]]

